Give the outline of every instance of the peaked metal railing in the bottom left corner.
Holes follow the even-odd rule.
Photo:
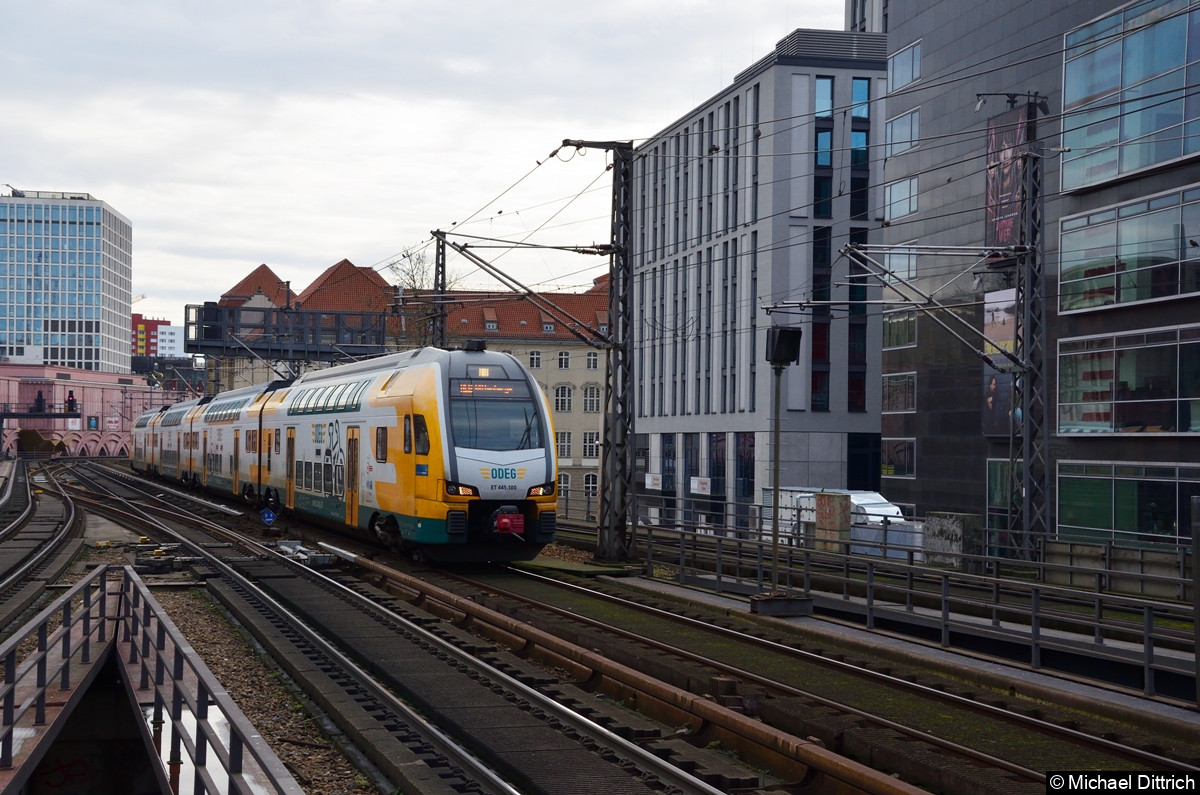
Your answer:
[[[30,640],[35,651],[19,659]],[[14,760],[22,730],[40,734],[47,705],[70,704],[61,692],[85,689],[108,654],[120,656],[126,687],[142,692],[133,703],[152,691],[143,731],[163,754],[168,729],[166,758],[155,766],[164,791],[180,791],[191,770],[193,793],[302,793],[137,573],[115,566],[97,567],[0,645],[0,772],[8,785],[32,775]]]

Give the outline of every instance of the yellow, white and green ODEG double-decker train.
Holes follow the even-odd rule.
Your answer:
[[[550,406],[511,355],[421,348],[146,412],[134,470],[238,495],[433,561],[553,540]]]

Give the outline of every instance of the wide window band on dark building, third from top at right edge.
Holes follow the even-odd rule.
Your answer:
[[[1058,343],[1060,434],[1200,434],[1200,325]]]

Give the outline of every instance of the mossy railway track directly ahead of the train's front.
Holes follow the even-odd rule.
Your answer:
[[[530,576],[475,575],[467,585],[478,594],[463,598],[611,659],[660,656],[655,667],[678,671],[683,686],[715,683],[695,691],[700,695],[864,760],[892,759],[893,770],[934,791],[1044,791],[1046,770],[1195,771],[1200,764],[1194,737],[1154,735],[1004,693],[967,691],[961,682],[896,670],[892,663],[871,669],[846,652],[799,648],[805,641],[796,636],[752,636],[748,630],[761,634],[762,627],[734,626],[740,622],[728,616],[686,616],[680,614],[692,610],[646,606],[612,588],[598,593]],[[864,741],[868,736],[872,740]]]

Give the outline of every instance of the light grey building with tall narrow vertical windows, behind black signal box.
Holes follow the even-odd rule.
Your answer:
[[[878,486],[878,287],[838,251],[880,226],[886,41],[796,30],[636,149],[632,388],[650,521],[752,526],[775,460],[785,488]],[[778,456],[772,325],[803,333]]]

